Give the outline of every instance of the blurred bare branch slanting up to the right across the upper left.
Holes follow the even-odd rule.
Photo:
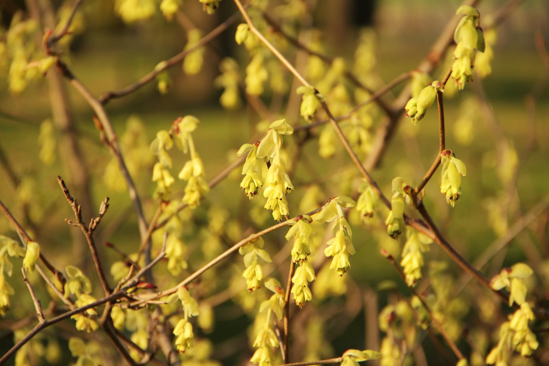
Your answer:
[[[119,91],[104,92],[101,95],[101,97],[99,97],[100,102],[102,104],[107,104],[107,102],[109,102],[110,99],[124,97],[125,95],[135,92],[137,89],[141,88],[143,85],[154,80],[156,75],[160,74],[160,72],[179,63],[189,53],[193,52],[196,49],[199,49],[200,47],[203,47],[206,43],[210,42],[215,37],[219,36],[223,31],[228,29],[228,27],[231,26],[239,18],[238,14],[239,13],[237,12],[231,15],[229,18],[227,18],[227,20],[225,20],[220,25],[215,27],[214,30],[212,30],[210,33],[208,33],[203,38],[201,38],[201,40],[198,41],[198,43],[195,44],[193,47],[189,47],[188,49],[183,50],[183,52],[180,52],[177,55],[173,56],[171,59],[164,61],[163,63],[161,63],[162,64],[161,67],[155,67],[153,71],[150,71],[147,75],[141,77],[138,81],[136,81],[132,85],[128,85],[127,87],[122,88]]]

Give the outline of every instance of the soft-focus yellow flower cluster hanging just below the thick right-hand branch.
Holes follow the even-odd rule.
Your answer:
[[[423,253],[429,251],[429,244],[433,239],[414,229],[408,229],[407,240],[402,247],[402,260],[400,265],[406,275],[406,283],[413,286],[421,278],[421,267],[423,267]]]

